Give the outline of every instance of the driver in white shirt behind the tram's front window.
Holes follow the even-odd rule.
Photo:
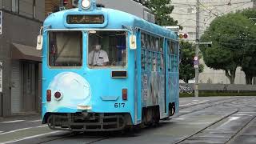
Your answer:
[[[94,50],[89,53],[88,63],[90,66],[106,66],[109,58],[101,45],[95,45]]]

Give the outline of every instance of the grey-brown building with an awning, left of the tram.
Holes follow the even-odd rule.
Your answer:
[[[44,0],[0,0],[0,117],[38,113],[41,52],[36,38]]]

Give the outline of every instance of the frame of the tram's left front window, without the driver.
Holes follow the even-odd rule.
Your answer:
[[[50,33],[70,33],[70,32],[78,32],[81,34],[81,37],[80,37],[80,63],[79,63],[79,66],[52,66],[52,64],[50,64]],[[77,34],[76,34],[77,35]],[[47,65],[50,67],[50,69],[62,69],[62,68],[65,68],[65,69],[78,69],[78,68],[81,68],[83,66],[83,46],[82,46],[82,43],[83,43],[83,33],[82,31],[80,30],[49,30],[47,32]],[[56,44],[57,45],[57,44]],[[63,50],[63,49],[62,49]],[[63,64],[62,64],[63,65]]]

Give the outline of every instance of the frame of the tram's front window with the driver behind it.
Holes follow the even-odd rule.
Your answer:
[[[90,66],[89,64],[89,61],[88,61],[88,58],[89,58],[89,54],[90,54],[90,35],[89,33],[87,34],[87,44],[86,44],[86,55],[87,55],[87,62],[86,62],[86,65],[90,68],[90,69],[107,69],[107,68],[110,68],[110,69],[126,69],[127,66],[128,66],[128,50],[129,50],[129,46],[128,46],[128,31],[127,30],[95,30],[96,33],[97,32],[124,32],[125,33],[125,39],[126,39],[126,64],[125,65],[122,65],[122,66],[111,66],[111,63],[110,63],[110,53],[113,53],[113,51],[110,52],[110,47],[108,47],[108,51],[106,52],[107,55],[108,55],[108,58],[109,58],[109,62],[108,62],[108,65],[107,66]],[[90,33],[90,34],[94,34],[94,33]],[[98,34],[95,34],[95,35],[98,35]],[[98,35],[99,36],[99,35]],[[110,36],[108,36],[110,37]],[[103,39],[103,38],[102,38]],[[101,42],[102,43],[102,42]],[[108,43],[108,46],[110,46],[110,39],[109,41],[107,42]],[[102,45],[102,44],[101,44]],[[103,46],[102,46],[103,47]],[[102,50],[105,50],[106,51],[106,48],[105,49],[102,49]]]

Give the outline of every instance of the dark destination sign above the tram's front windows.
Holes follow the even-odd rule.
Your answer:
[[[104,16],[99,15],[67,15],[66,23],[68,24],[102,24]]]

